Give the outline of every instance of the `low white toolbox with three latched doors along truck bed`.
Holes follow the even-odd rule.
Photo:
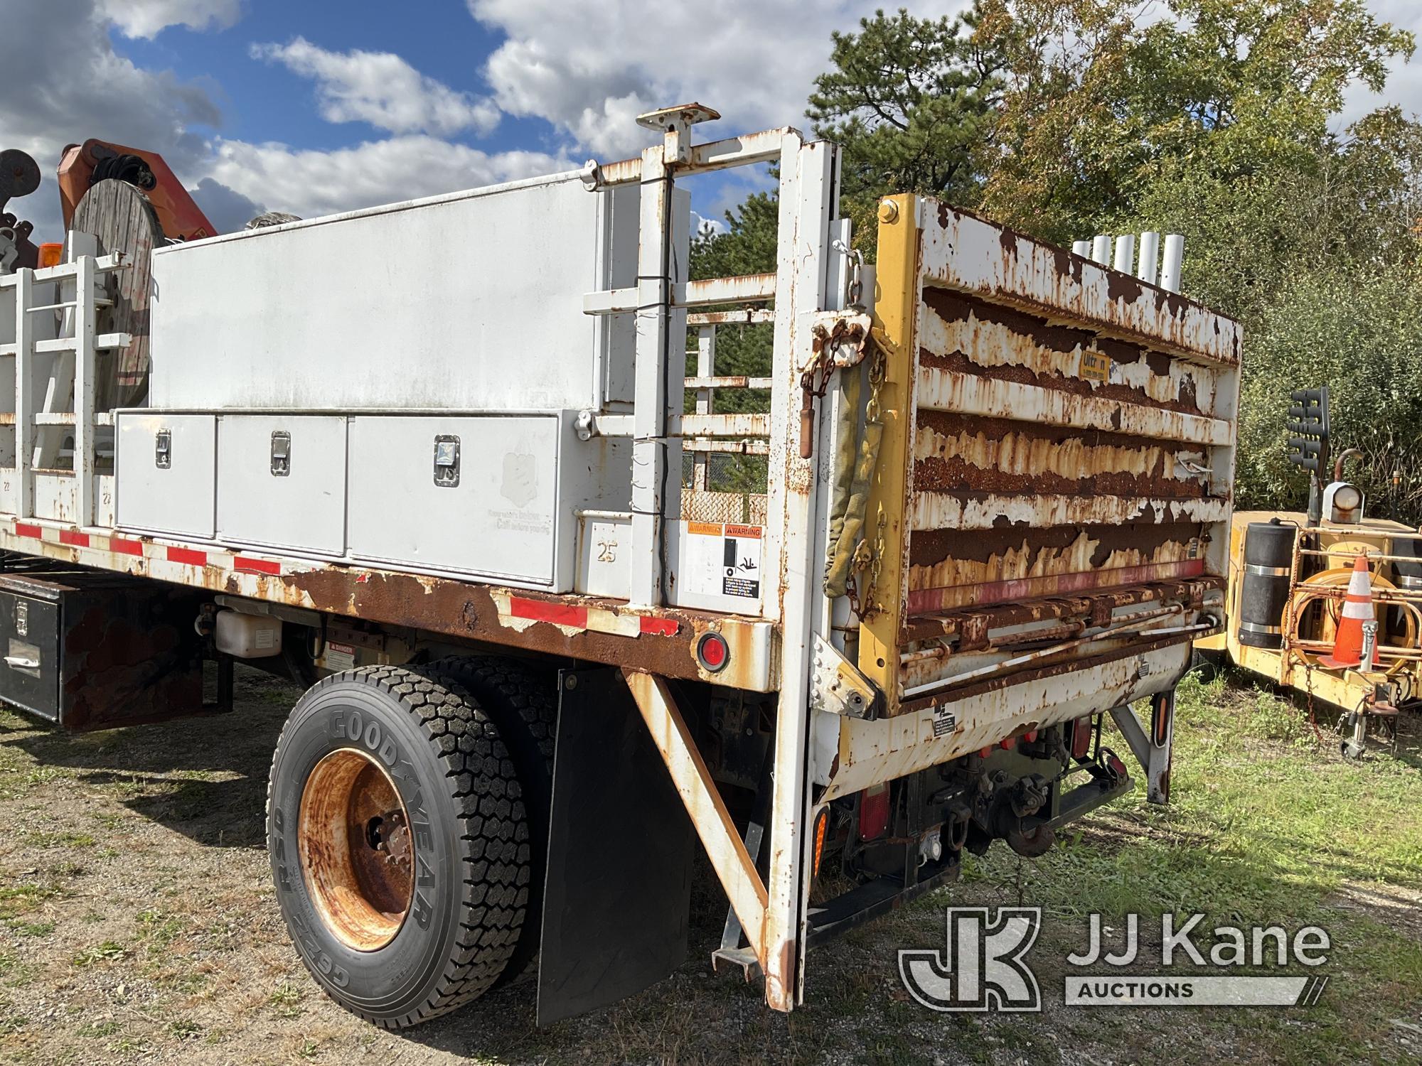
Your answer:
[[[577,516],[631,465],[576,419],[121,411],[118,527],[573,591]]]

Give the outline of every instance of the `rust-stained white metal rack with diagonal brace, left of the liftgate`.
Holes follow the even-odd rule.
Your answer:
[[[720,118],[693,104],[643,115],[638,122],[663,134],[640,159],[590,166],[590,188],[636,183],[641,189],[637,279],[634,289],[589,293],[587,314],[637,316],[633,414],[602,416],[597,432],[633,441],[631,583],[630,601],[658,605],[665,600],[664,550],[677,515],[668,507],[668,463],[681,476],[684,451],[759,451],[768,462],[761,574],[778,590],[762,600],[761,615],[779,632],[781,689],[776,711],[774,763],[765,830],[781,861],[762,880],[755,861],[725,812],[715,785],[701,763],[671,691],[660,678],[627,671],[633,696],[701,834],[711,864],[732,901],[737,924],[749,951],[764,968],[766,1002],[788,1011],[799,999],[803,978],[809,854],[809,809],[805,753],[811,659],[815,630],[823,614],[819,581],[822,559],[818,500],[819,463],[793,443],[801,426],[801,377],[815,360],[812,328],[818,316],[839,306],[832,290],[830,249],[836,216],[839,158],[833,145],[806,142],[795,129],[771,129],[701,145],[691,144],[691,126]],[[779,175],[776,270],[701,281],[678,281],[671,260],[671,186],[685,175],[732,166],[775,163]],[[772,308],[738,311],[729,320],[774,324],[774,358],[768,381],[768,414],[683,414],[685,388],[712,389],[712,344],[691,382],[685,378],[687,313],[698,327],[720,324],[725,306],[772,303]],[[680,334],[680,335],[678,335]],[[674,370],[673,370],[673,364]],[[668,378],[674,377],[671,382]],[[738,382],[739,384],[739,382]],[[749,382],[747,382],[749,384]],[[674,385],[674,387],[673,387]],[[825,411],[820,411],[823,422]],[[705,439],[701,439],[705,438]],[[739,439],[737,439],[739,438]],[[822,448],[828,448],[823,443]]]

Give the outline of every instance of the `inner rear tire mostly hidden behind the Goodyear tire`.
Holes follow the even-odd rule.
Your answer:
[[[499,657],[439,659],[432,669],[452,677],[493,719],[513,756],[528,810],[529,905],[518,947],[499,984],[522,975],[538,954],[542,932],[543,874],[553,800],[553,742],[557,732],[557,675]]]

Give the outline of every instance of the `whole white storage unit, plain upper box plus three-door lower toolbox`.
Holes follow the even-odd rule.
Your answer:
[[[580,590],[579,515],[626,512],[633,469],[630,438],[574,422],[630,409],[637,347],[634,313],[584,296],[636,287],[638,199],[570,172],[156,250],[151,408],[115,415],[118,526]],[[606,554],[590,587],[626,594],[627,554]]]

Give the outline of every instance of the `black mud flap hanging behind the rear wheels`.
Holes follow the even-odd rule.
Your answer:
[[[687,957],[695,839],[617,669],[563,671],[538,1023],[616,1003]]]

